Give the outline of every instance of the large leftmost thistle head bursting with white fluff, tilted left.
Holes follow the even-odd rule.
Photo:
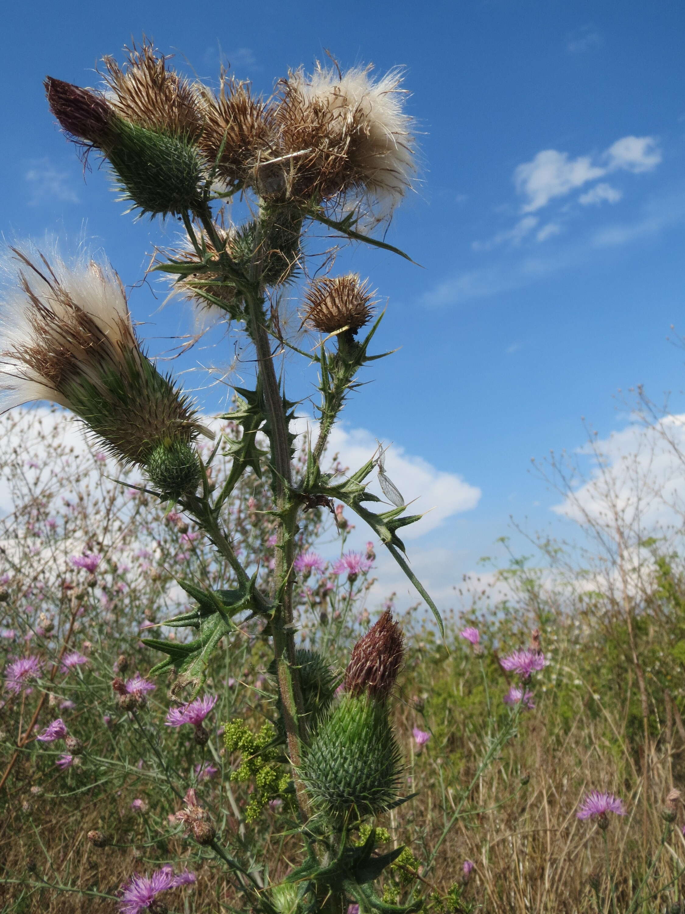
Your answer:
[[[189,446],[201,430],[195,412],[142,352],[116,272],[12,250],[0,302],[0,408],[58,403],[125,463],[145,465],[172,442]]]

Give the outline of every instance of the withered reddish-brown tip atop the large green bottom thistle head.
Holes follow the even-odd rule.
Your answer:
[[[402,665],[405,636],[390,610],[354,645],[345,670],[345,692],[385,701]]]

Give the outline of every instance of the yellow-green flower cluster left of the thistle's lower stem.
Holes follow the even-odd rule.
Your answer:
[[[288,790],[290,775],[283,773],[279,764],[280,749],[274,746],[276,730],[265,724],[257,735],[242,720],[231,720],[224,728],[224,745],[227,752],[240,752],[240,767],[231,775],[231,781],[255,781],[255,791],[245,811],[246,822],[254,822],[269,800]]]

